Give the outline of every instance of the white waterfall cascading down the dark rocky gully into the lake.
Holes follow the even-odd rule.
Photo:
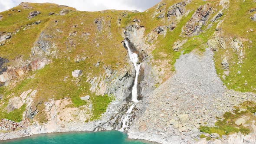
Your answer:
[[[133,101],[134,104],[132,104],[131,107],[128,109],[128,111],[125,113],[125,115],[122,116],[122,120],[121,120],[122,126],[119,131],[124,131],[125,128],[128,128],[129,118],[131,118],[131,111],[134,108],[135,103],[138,102],[137,85],[138,85],[138,76],[139,76],[139,72],[140,72],[140,68],[141,68],[141,64],[138,63],[139,62],[138,54],[131,51],[131,48],[128,45],[127,39],[125,39],[125,46],[128,49],[129,58],[135,67],[135,80],[134,80],[134,85],[131,89],[131,101]]]

